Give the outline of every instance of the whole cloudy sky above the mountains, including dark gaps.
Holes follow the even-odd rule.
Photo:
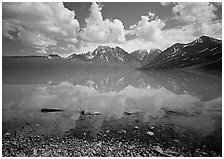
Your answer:
[[[3,56],[165,50],[202,35],[222,40],[221,2],[2,3]]]

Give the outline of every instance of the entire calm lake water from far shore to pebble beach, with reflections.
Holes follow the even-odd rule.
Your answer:
[[[220,72],[3,70],[2,88],[3,133],[95,136],[104,128],[149,124],[221,151]],[[43,107],[64,111],[43,113]],[[101,115],[85,117],[82,110]]]

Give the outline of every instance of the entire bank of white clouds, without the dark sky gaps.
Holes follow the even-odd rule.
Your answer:
[[[155,13],[139,17],[124,28],[119,19],[104,19],[102,5],[92,3],[85,25],[80,28],[75,12],[63,3],[3,3],[2,35],[22,41],[38,53],[81,53],[98,45],[120,46],[128,52],[136,49],[165,48],[176,42],[187,43],[208,35],[222,38],[222,20],[216,11],[221,3],[162,2],[172,8],[171,18]],[[169,15],[170,17],[170,15]]]

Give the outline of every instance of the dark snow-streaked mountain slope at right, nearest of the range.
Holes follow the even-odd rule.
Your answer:
[[[144,69],[170,69],[184,67],[222,67],[222,41],[202,36],[188,44],[176,43],[164,50]]]

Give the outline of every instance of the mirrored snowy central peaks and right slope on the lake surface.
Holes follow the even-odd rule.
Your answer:
[[[119,92],[129,85],[151,89],[164,87],[175,94],[190,94],[202,101],[219,97],[221,82],[214,75],[185,71],[116,72],[70,81],[73,85],[93,87],[99,92]]]

